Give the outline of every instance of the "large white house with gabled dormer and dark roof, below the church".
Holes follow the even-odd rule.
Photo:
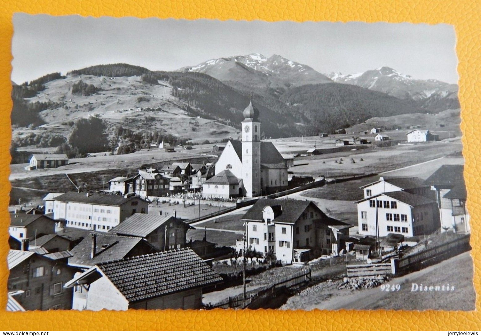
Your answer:
[[[259,199],[242,220],[246,248],[264,255],[274,253],[283,263],[296,261],[296,249],[309,250],[309,259],[322,254],[339,255],[353,227],[329,218],[311,201],[294,199]],[[242,252],[243,245],[237,244],[238,252]]]

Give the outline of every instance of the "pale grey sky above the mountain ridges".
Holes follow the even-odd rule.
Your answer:
[[[12,80],[52,72],[129,63],[177,70],[210,59],[281,55],[326,74],[389,66],[419,79],[456,83],[456,34],[451,25],[361,22],[160,20],[132,17],[13,16]]]

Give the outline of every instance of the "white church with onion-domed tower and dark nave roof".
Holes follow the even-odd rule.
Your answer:
[[[288,187],[284,158],[272,142],[261,141],[259,110],[252,97],[243,116],[242,139],[228,141],[215,163],[215,176],[203,184],[204,197],[258,197]]]

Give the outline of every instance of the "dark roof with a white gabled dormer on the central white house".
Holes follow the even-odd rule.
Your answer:
[[[259,199],[242,217],[243,220],[264,221],[262,211],[266,206],[280,206],[280,213],[274,222],[295,223],[312,202],[297,199]],[[312,203],[316,206],[314,203]],[[320,211],[320,210],[319,210]]]

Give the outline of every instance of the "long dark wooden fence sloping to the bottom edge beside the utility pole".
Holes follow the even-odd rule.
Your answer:
[[[290,276],[285,276],[278,279],[274,284],[263,287],[261,289],[255,289],[246,293],[244,300],[244,294],[239,294],[233,297],[229,297],[217,303],[203,303],[202,308],[205,310],[215,308],[234,308],[245,309],[249,308],[253,304],[261,305],[264,301],[273,298],[279,290],[290,289],[294,286],[300,286],[311,280],[311,269],[305,269]]]

